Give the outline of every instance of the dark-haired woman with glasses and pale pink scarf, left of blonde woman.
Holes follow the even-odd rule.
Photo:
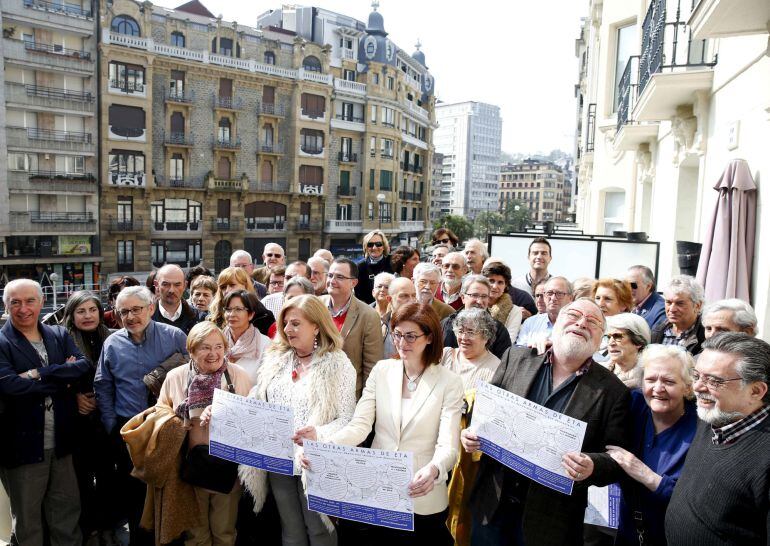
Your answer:
[[[257,296],[247,290],[230,292],[223,300],[227,322],[223,333],[230,347],[227,360],[237,362],[249,375],[252,384],[257,381],[262,355],[270,345],[270,338],[251,324],[258,303]]]

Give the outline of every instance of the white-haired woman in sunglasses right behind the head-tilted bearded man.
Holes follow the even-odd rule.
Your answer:
[[[639,315],[620,313],[607,318],[606,356],[602,364],[629,389],[637,389],[642,382],[639,355],[650,344],[650,327]]]

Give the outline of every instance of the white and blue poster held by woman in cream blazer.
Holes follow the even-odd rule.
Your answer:
[[[305,440],[307,503],[328,516],[414,531],[412,454]]]

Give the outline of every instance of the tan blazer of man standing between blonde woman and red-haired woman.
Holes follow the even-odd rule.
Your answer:
[[[321,296],[329,305],[331,296]],[[348,314],[342,325],[342,350],[356,369],[356,399],[361,398],[366,378],[374,365],[383,358],[380,315],[367,304],[352,296]]]

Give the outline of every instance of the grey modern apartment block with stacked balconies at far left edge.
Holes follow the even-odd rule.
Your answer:
[[[0,283],[99,283],[91,2],[3,0],[0,23]]]

